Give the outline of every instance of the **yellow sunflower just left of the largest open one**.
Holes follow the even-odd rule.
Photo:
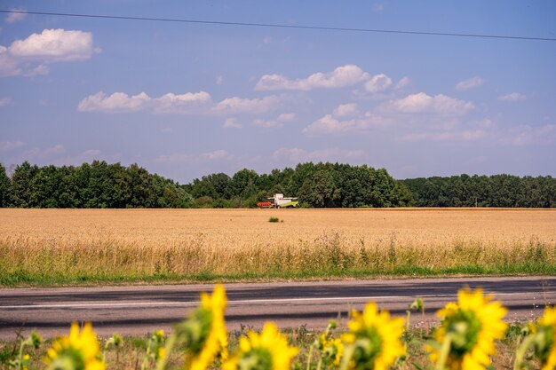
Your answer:
[[[378,311],[373,302],[367,303],[362,314],[353,311],[352,318],[347,323],[349,332],[342,335],[346,343],[342,368],[387,370],[405,354],[401,343],[404,319],[391,319],[388,311]]]

